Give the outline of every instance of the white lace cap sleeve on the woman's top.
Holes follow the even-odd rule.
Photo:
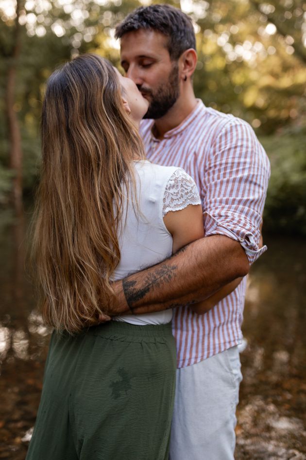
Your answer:
[[[179,211],[188,204],[201,204],[201,198],[194,180],[182,168],[171,175],[163,199],[163,217],[169,211]]]

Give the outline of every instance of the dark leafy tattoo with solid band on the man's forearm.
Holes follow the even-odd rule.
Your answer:
[[[176,265],[161,265],[153,273],[147,274],[143,286],[139,288],[135,287],[136,281],[129,280],[129,278],[122,279],[123,292],[131,312],[134,313],[136,302],[145,297],[151,290],[162,286],[164,283],[169,283],[176,269]]]

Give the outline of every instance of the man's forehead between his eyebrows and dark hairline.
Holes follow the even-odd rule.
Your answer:
[[[168,37],[153,29],[139,29],[127,32],[120,39],[122,55],[142,57],[150,54],[167,53]]]

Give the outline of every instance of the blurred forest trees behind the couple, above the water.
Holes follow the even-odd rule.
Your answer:
[[[0,0],[0,207],[32,197],[39,119],[54,68],[94,52],[119,67],[115,25],[150,0]],[[264,228],[306,234],[306,4],[168,1],[194,20],[196,95],[247,120],[272,163]],[[120,68],[120,67],[119,67]]]

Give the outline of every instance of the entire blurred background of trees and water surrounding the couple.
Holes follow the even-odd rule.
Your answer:
[[[120,69],[114,27],[137,6],[151,3],[0,0],[0,459],[25,457],[50,333],[24,269],[45,82],[57,65],[86,52],[108,57]],[[247,120],[272,166],[264,214],[269,250],[248,280],[236,458],[303,460],[306,3],[167,3],[194,21],[197,97]]]

